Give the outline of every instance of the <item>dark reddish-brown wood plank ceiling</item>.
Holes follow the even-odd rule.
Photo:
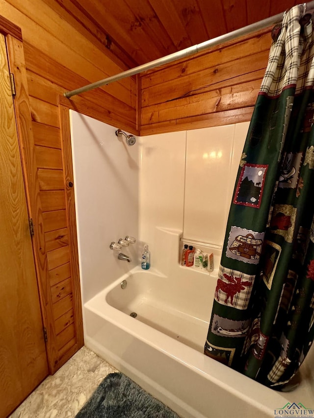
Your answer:
[[[44,0],[122,68],[276,15],[295,0]],[[79,45],[78,45],[79,48]]]

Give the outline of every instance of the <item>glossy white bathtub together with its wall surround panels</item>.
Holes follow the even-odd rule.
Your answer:
[[[275,392],[203,354],[248,123],[153,135],[127,147],[116,128],[94,121],[94,130],[90,118],[76,118],[85,344],[183,418],[273,418],[288,402],[314,409],[313,353],[293,393]],[[137,248],[123,251],[132,263],[108,249],[125,235],[139,238]],[[140,269],[144,242],[147,271]],[[182,267],[183,243],[213,252],[214,271]]]

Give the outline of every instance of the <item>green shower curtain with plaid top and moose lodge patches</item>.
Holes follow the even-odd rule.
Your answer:
[[[301,11],[286,12],[271,46],[204,351],[278,390],[314,339],[314,32]]]

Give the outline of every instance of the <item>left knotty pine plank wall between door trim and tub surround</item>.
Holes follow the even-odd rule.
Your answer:
[[[126,68],[99,40],[85,37],[44,0],[36,0],[36,5],[33,0],[0,0],[0,15],[22,29],[29,129],[34,138],[39,186],[36,210],[40,221],[34,227],[42,237],[35,243],[35,251],[42,266],[42,304],[51,305],[43,319],[48,328],[50,370],[54,372],[83,344],[81,314],[76,317],[76,311],[80,313],[76,309],[80,300],[75,297],[79,289],[78,258],[76,243],[69,239],[76,230],[69,224],[68,212],[73,206],[69,206],[68,173],[60,140],[64,108],[60,112],[59,95]],[[11,69],[13,73],[19,70],[18,66]],[[128,78],[111,84],[106,91],[86,93],[84,98],[64,98],[63,104],[136,134],[136,91],[135,78]]]

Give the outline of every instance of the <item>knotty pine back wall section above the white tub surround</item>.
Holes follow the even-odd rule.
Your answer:
[[[249,121],[265,72],[269,28],[141,77],[141,135]]]

